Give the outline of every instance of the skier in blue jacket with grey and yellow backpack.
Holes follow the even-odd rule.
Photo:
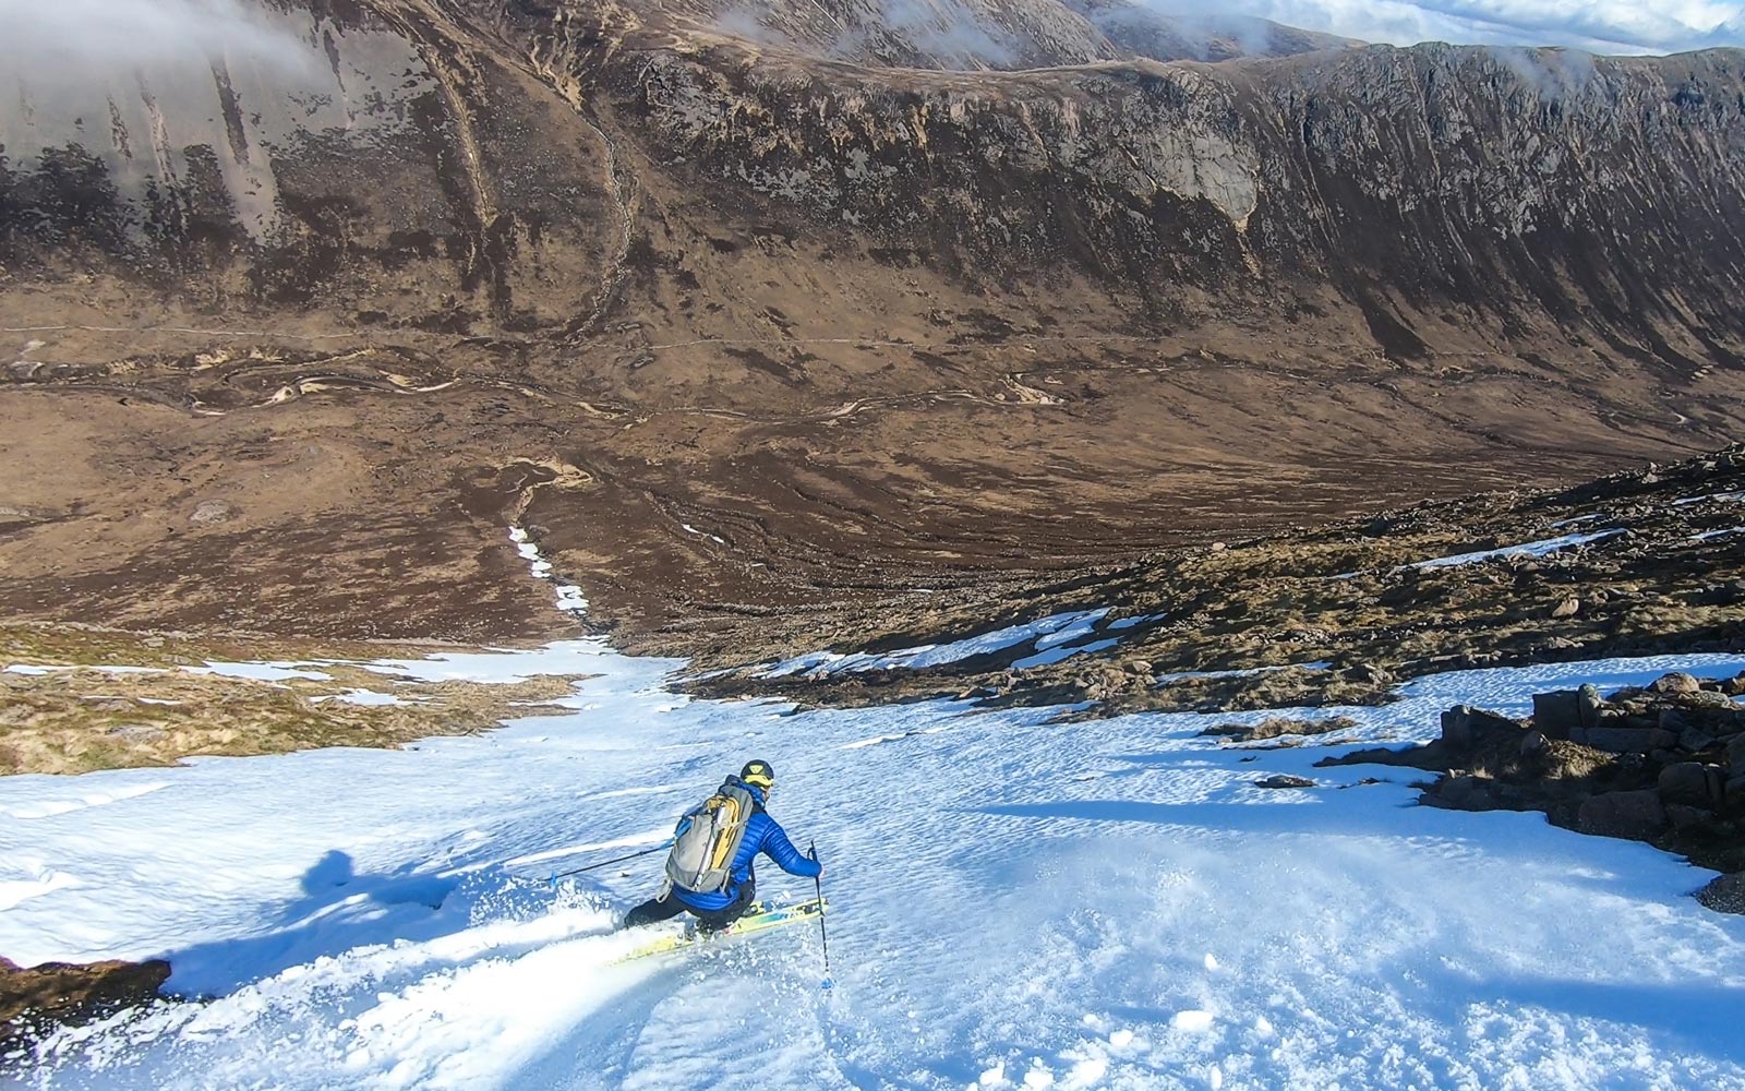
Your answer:
[[[794,848],[794,843],[787,840],[787,833],[780,822],[771,819],[764,810],[773,787],[775,770],[770,768],[770,763],[747,761],[738,777],[728,777],[714,796],[681,819],[679,829],[674,834],[672,855],[667,859],[667,887],[656,897],[625,915],[623,927],[635,929],[672,920],[689,911],[705,932],[719,932],[743,916],[745,909],[750,908],[757,894],[757,876],[752,875],[752,861],[759,852],[766,854],[789,875],[803,878],[824,875],[824,864],[815,855],[801,855]],[[729,806],[714,810],[717,801],[731,805],[735,799],[749,801],[750,813],[715,817],[729,810]],[[681,864],[691,841],[696,841],[705,855],[721,854],[719,859],[726,861],[728,847],[733,843],[731,838],[738,838],[738,847],[731,850],[731,862],[710,869],[707,862],[695,862],[698,850],[693,850],[693,862],[688,866]],[[698,885],[703,889],[686,885],[686,882],[696,878],[701,878]]]

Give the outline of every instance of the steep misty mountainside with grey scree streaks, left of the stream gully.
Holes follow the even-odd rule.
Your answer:
[[[0,260],[363,325],[515,328],[585,302],[614,225],[590,189],[599,147],[548,89],[419,5],[258,17],[222,52],[21,70],[0,112]],[[532,283],[553,311],[517,311]]]

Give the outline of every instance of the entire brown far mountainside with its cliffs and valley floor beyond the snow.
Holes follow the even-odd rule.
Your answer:
[[[1736,51],[1113,0],[251,19],[0,98],[24,616],[489,635],[510,520],[612,618],[745,616],[1745,422]]]

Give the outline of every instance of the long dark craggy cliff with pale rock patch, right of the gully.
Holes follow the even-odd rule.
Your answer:
[[[558,49],[550,65],[592,70]],[[1476,323],[1738,360],[1738,52],[1372,47],[968,80],[719,49],[616,75],[599,73],[614,119],[736,190],[724,209],[757,201],[953,276],[1071,267],[1169,325],[1331,286],[1406,356]]]

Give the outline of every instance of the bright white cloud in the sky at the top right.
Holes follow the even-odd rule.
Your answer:
[[[1211,10],[1159,2],[1162,10]],[[1366,42],[1570,45],[1595,52],[1679,52],[1745,45],[1745,3],[1712,0],[1225,0],[1220,12],[1262,16]]]

